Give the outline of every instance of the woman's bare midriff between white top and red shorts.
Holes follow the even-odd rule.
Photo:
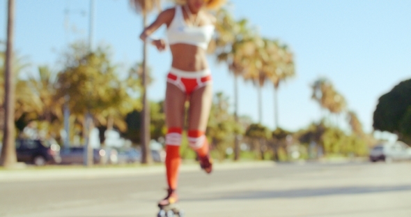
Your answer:
[[[208,68],[207,53],[201,47],[187,44],[170,45],[173,61],[171,66],[180,70],[196,72]]]

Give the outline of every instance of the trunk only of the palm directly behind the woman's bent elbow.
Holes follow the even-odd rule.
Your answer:
[[[143,26],[147,26],[147,15],[143,15]],[[143,111],[141,112],[141,163],[147,164],[151,162],[150,158],[150,107],[147,99],[147,43],[143,45]]]

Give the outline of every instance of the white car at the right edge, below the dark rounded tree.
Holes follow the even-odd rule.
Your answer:
[[[400,141],[382,142],[371,149],[369,157],[372,162],[384,160],[389,163],[394,160],[411,160],[411,147]]]

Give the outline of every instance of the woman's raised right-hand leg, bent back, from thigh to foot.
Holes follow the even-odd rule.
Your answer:
[[[209,148],[206,138],[206,128],[212,104],[212,85],[208,84],[194,91],[189,98],[189,145],[200,158],[201,167],[211,172],[211,162],[208,156]]]

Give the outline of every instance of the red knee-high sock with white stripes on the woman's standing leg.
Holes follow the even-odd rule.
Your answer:
[[[169,128],[166,135],[166,177],[169,188],[175,190],[180,167],[181,128]]]

